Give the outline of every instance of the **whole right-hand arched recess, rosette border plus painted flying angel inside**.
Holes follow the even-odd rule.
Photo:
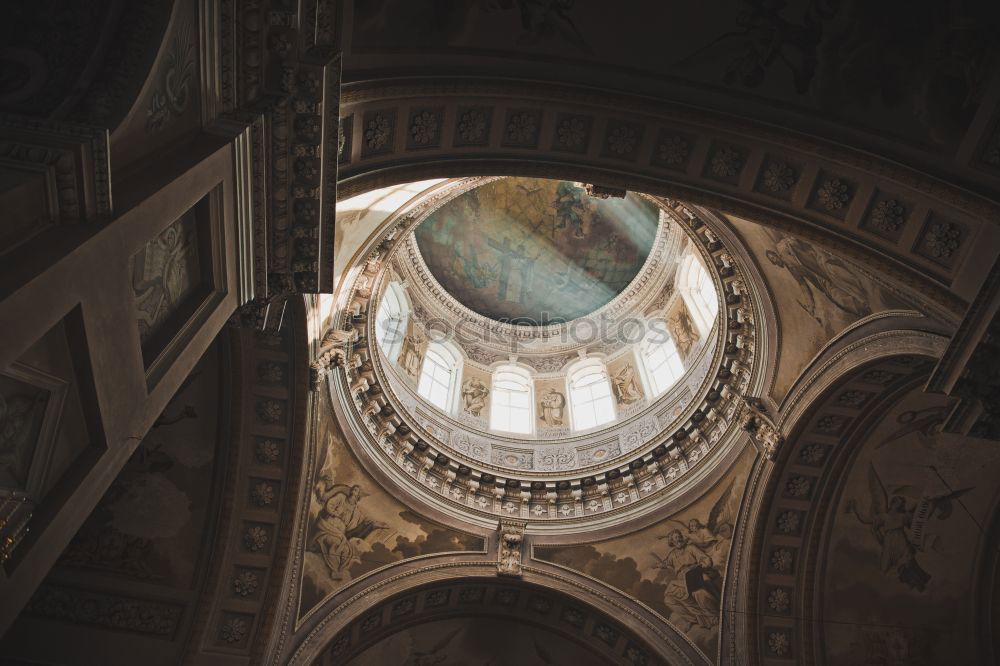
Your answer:
[[[1000,461],[941,432],[950,402],[922,388],[943,337],[869,333],[800,380],[779,455],[751,475],[724,663],[747,644],[762,664],[987,654],[973,627]]]

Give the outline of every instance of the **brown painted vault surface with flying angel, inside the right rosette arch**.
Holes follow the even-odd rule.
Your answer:
[[[912,390],[853,461],[818,578],[829,663],[985,663],[970,599],[1000,454],[941,432],[948,409]]]

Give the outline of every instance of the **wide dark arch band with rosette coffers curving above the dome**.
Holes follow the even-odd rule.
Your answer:
[[[971,299],[1000,237],[990,222],[1000,218],[995,201],[927,174],[781,128],[647,98],[426,79],[355,84],[343,102],[342,115],[362,121],[354,122],[351,152],[341,156],[344,193],[431,176],[572,174],[819,239],[926,291],[952,316]],[[403,145],[399,117],[431,106],[435,144]],[[525,114],[534,119],[524,129],[527,139],[512,141],[508,134],[520,131]],[[369,132],[379,118],[386,132]],[[570,146],[560,128],[574,119],[586,120],[585,129]],[[622,132],[632,140],[622,144]]]

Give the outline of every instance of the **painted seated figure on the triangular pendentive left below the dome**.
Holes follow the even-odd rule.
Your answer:
[[[329,470],[320,475],[314,492],[320,510],[312,546],[323,556],[330,577],[341,580],[344,571],[360,559],[358,543],[389,528],[362,513],[359,504],[364,493],[360,486],[335,483]]]

